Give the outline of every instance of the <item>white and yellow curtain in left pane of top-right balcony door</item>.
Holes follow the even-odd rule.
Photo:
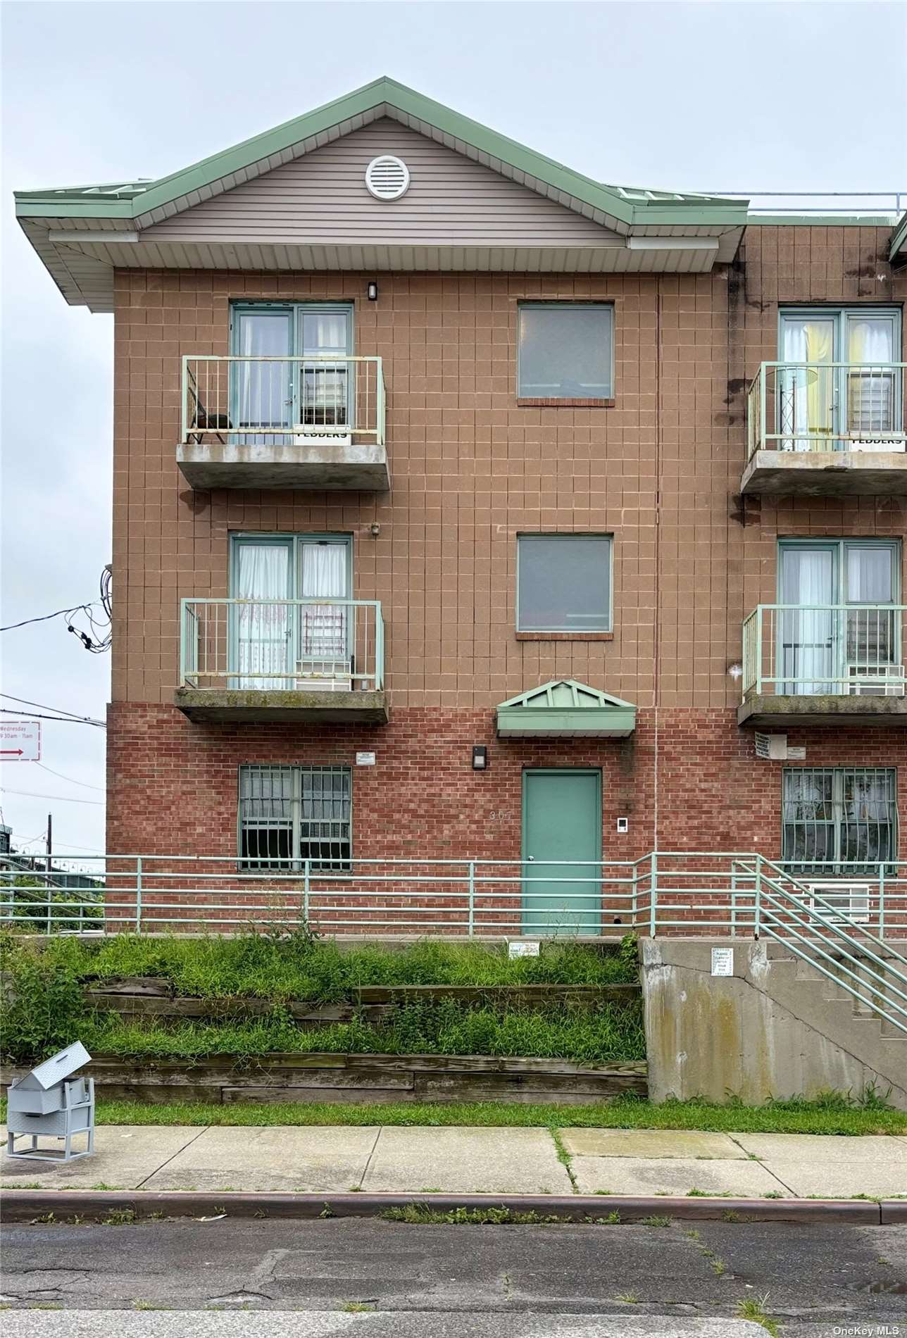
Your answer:
[[[835,328],[828,320],[795,320],[783,322],[784,363],[831,363],[835,352]],[[831,450],[833,446],[833,368],[779,368],[779,431],[785,435],[784,451]],[[825,444],[824,438],[829,440]]]

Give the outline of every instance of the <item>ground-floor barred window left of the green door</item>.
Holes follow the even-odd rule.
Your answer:
[[[349,872],[352,777],[348,767],[241,767],[243,868]]]

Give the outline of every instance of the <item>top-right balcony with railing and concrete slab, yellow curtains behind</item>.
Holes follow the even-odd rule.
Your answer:
[[[763,363],[741,492],[907,494],[904,363]]]

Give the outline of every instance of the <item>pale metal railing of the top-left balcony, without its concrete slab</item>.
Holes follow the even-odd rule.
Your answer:
[[[181,442],[384,446],[380,357],[183,357]]]

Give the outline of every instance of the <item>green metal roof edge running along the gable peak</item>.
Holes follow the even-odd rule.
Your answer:
[[[395,79],[383,76],[372,83],[356,88],[333,102],[316,107],[314,111],[286,120],[273,130],[245,139],[231,149],[221,150],[210,158],[183,167],[169,177],[161,177],[148,182],[147,187],[130,201],[103,201],[92,197],[91,205],[86,209],[72,199],[59,199],[52,190],[15,191],[16,213],[27,215],[40,215],[54,213],[56,217],[138,217],[153,209],[159,209],[174,199],[201,190],[211,182],[226,177],[230,173],[241,171],[251,163],[272,154],[282,153],[292,145],[312,135],[332,130],[341,122],[363,115],[380,103],[389,103],[399,111],[419,120],[427,122],[436,130],[462,139],[487,153],[491,158],[499,158],[510,167],[526,173],[530,177],[544,182],[554,190],[563,191],[581,199],[594,209],[599,209],[621,222],[633,225],[646,221],[657,223],[744,223],[746,221],[746,202],[738,199],[724,199],[722,197],[696,197],[688,201],[674,201],[670,205],[664,201],[627,201],[613,187],[593,181],[582,173],[565,167],[563,163],[547,158],[544,154],[528,149],[526,145],[508,139],[487,126],[463,116],[460,112],[445,107],[424,94],[397,83]],[[629,187],[627,187],[629,189]],[[54,210],[39,207],[43,203],[55,205]],[[123,213],[126,210],[126,213]]]

